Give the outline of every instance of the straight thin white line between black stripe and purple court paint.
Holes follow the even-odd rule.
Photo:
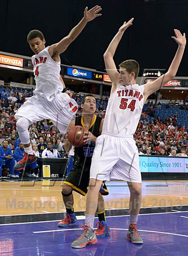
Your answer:
[[[188,212],[188,211],[179,211],[179,212]],[[179,213],[179,212],[145,213],[145,214],[140,214],[140,216],[142,216],[142,215],[154,215],[154,214],[171,214],[171,213]],[[128,217],[128,216],[129,215],[117,215],[117,216],[106,216],[106,218]],[[85,216],[83,216],[83,215],[76,216],[76,217],[77,217],[77,220],[85,220]],[[184,217],[184,216],[181,216],[181,217]],[[186,218],[188,218],[188,217],[186,217]],[[95,219],[98,219],[98,217],[95,217]],[[44,221],[33,221],[33,222],[8,223],[8,224],[0,224],[0,226],[22,225],[22,224],[32,224],[32,223],[44,223],[44,222],[54,222],[54,221],[60,221],[60,220],[44,220]]]

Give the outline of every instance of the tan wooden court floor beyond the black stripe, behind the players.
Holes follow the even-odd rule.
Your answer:
[[[125,182],[107,182],[109,195],[104,197],[107,210],[128,208],[129,189]],[[0,215],[64,212],[61,181],[0,182]],[[75,211],[85,211],[86,197],[73,192]],[[141,207],[188,205],[188,182],[143,181]]]

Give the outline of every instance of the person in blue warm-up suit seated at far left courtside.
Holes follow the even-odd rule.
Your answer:
[[[0,146],[0,178],[3,166],[10,169],[9,176],[11,178],[19,178],[19,176],[17,177],[17,175],[14,175],[14,157],[8,144],[8,141],[4,140],[2,146]]]

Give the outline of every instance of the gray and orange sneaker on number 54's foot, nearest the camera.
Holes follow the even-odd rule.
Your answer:
[[[83,248],[86,245],[97,243],[97,238],[96,238],[96,235],[94,234],[94,230],[88,226],[81,225],[81,227],[84,228],[84,232],[81,234],[79,238],[77,238],[77,240],[73,241],[71,246],[73,248]]]

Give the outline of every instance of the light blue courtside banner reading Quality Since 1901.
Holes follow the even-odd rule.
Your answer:
[[[141,172],[188,172],[188,157],[139,156]]]

